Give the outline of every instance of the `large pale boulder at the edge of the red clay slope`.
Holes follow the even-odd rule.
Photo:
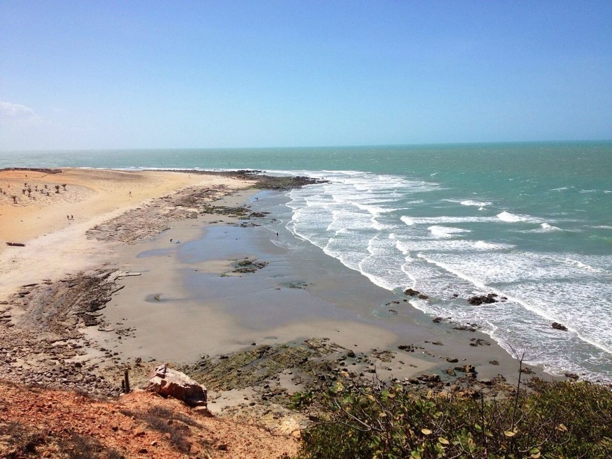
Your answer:
[[[163,397],[173,397],[189,406],[206,406],[206,387],[166,365],[155,368],[144,390]]]

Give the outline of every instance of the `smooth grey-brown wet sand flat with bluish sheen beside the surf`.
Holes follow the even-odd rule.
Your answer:
[[[466,364],[478,368],[479,378],[501,374],[512,382],[518,375],[517,360],[487,335],[453,329],[457,324],[447,319],[434,323],[403,293],[373,285],[285,230],[282,195],[258,197],[249,191],[218,201],[226,206],[248,202],[254,211],[272,212],[256,223],[206,215],[125,247],[119,268],[141,275],[119,280],[125,288],[108,303],[105,319],[132,334],[120,342],[112,332],[90,329],[89,336],[126,357],[168,362],[194,362],[252,343],[325,337],[355,352],[393,353],[391,362],[377,368],[383,378],[409,378],[426,370],[445,376],[447,368]],[[170,239],[182,242],[170,244]],[[232,264],[247,257],[267,265],[232,272]],[[406,352],[400,345],[415,350]]]

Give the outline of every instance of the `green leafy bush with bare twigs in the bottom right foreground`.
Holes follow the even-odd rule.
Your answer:
[[[470,395],[471,394],[471,395]],[[299,458],[612,457],[612,390],[533,379],[486,399],[347,378],[296,394],[313,424]]]

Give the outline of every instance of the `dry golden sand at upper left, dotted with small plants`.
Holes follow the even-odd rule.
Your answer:
[[[65,190],[62,184],[66,184]],[[59,193],[54,185],[60,185]],[[121,249],[88,239],[87,230],[190,185],[237,189],[250,183],[162,171],[0,171],[0,300],[19,285],[108,263]],[[27,191],[22,192],[28,187],[32,189],[30,198]],[[35,187],[49,196],[36,192]],[[12,195],[17,196],[17,204],[13,204]],[[23,242],[26,247],[9,247],[4,242]]]

